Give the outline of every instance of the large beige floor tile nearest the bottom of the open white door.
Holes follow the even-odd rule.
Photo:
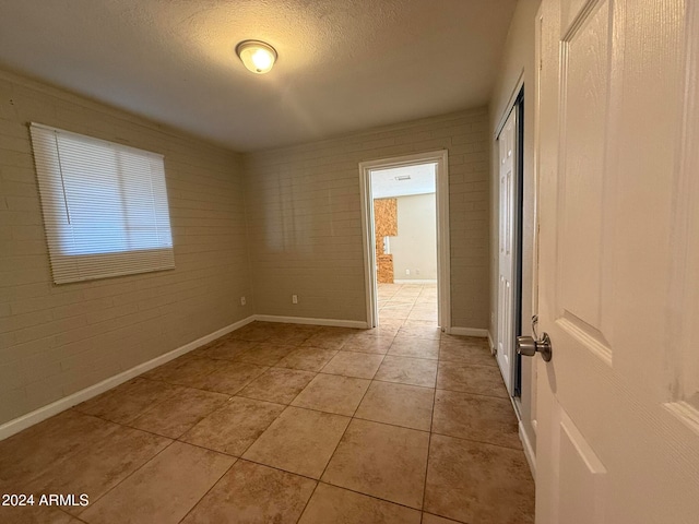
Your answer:
[[[434,434],[425,511],[469,523],[533,523],[534,481],[524,453]]]

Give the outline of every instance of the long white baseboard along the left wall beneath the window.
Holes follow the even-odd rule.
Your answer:
[[[173,349],[171,352],[166,353],[165,355],[155,357],[152,360],[149,360],[147,362],[139,364],[138,366],[131,369],[128,369],[127,371],[123,371],[119,374],[115,374],[114,377],[109,377],[108,379],[103,380],[102,382],[98,382],[94,385],[85,388],[84,390],[80,390],[71,395],[64,396],[63,398],[52,402],[51,404],[48,404],[46,406],[39,407],[38,409],[27,413],[26,415],[22,415],[21,417],[17,417],[13,420],[4,422],[3,425],[0,426],[0,440],[7,439],[8,437],[13,436],[14,433],[19,433],[20,431],[28,428],[29,426],[34,426],[35,424],[46,420],[47,418],[52,417],[54,415],[58,415],[59,413],[64,412],[66,409],[73,407],[76,404],[80,404],[81,402],[85,402],[92,398],[93,396],[97,396],[98,394],[104,393],[105,391],[116,388],[117,385],[122,384],[123,382],[131,380],[132,378],[138,377],[139,374],[145,373],[146,371],[150,371],[153,368],[157,368],[158,366],[169,362],[170,360],[177,357],[180,357],[186,353],[189,353],[193,349],[197,349],[200,346],[203,346],[204,344],[209,344],[211,341],[215,341],[216,338],[223,335],[226,335],[232,331],[242,327],[244,325],[249,324],[253,320],[256,320],[254,315],[248,317],[247,319],[239,320],[238,322],[235,322],[230,325],[222,327],[221,330],[214,331],[213,333],[202,336],[201,338],[197,338],[196,341],[192,341],[189,344],[185,344],[183,346],[180,346],[177,349]]]

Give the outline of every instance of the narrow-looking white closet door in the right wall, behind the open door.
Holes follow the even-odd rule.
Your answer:
[[[513,109],[498,136],[500,159],[500,233],[498,275],[497,361],[507,391],[512,394],[514,354],[514,159],[517,111]]]

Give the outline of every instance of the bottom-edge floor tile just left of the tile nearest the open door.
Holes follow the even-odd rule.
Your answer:
[[[319,484],[298,524],[420,524],[419,511]]]

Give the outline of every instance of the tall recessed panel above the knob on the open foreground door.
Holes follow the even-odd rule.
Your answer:
[[[602,320],[609,9],[601,1],[564,37],[558,211],[560,307],[577,332],[608,346]],[[572,326],[571,326],[572,327]]]

